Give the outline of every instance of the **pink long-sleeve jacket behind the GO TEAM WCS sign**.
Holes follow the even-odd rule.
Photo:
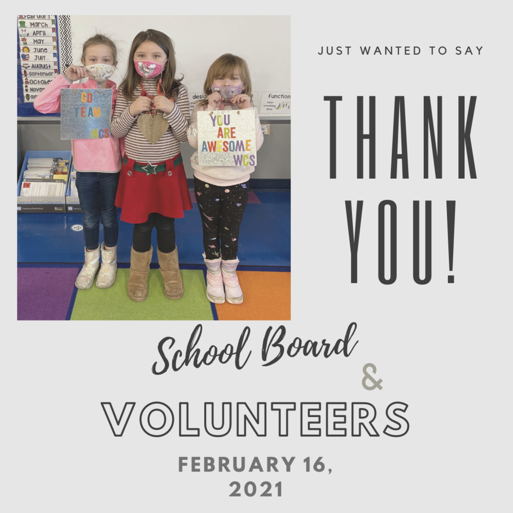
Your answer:
[[[117,98],[116,84],[110,80],[107,85],[112,89],[112,111]],[[61,111],[61,89],[97,89],[94,80],[83,84],[70,84],[63,75],[56,76],[34,101],[34,108],[44,114]],[[112,115],[112,114],[111,114]],[[121,169],[120,139],[75,139],[71,141],[73,165],[76,171],[98,171],[115,173]]]

